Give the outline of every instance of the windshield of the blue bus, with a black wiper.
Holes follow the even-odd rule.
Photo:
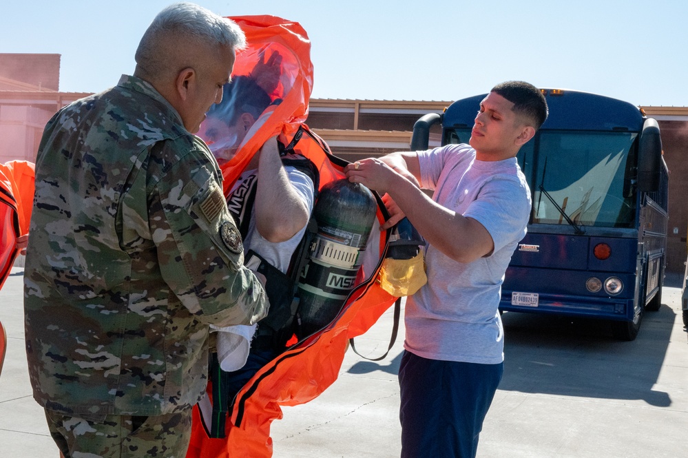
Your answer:
[[[539,136],[534,179],[528,170],[532,146],[519,160],[533,192],[534,223],[633,227],[635,187],[632,166],[637,134],[552,132]]]

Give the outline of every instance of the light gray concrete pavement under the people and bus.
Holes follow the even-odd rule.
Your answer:
[[[0,377],[2,457],[58,457],[43,410],[31,397],[23,349],[22,270],[0,291],[8,354]],[[634,342],[607,324],[505,313],[505,374],[483,425],[479,458],[646,458],[686,456],[688,339],[680,278],[667,278],[663,306],[645,314]],[[387,348],[392,313],[358,337],[360,353]],[[369,362],[349,350],[323,395],[284,408],[272,426],[276,458],[399,456],[397,369],[402,331],[390,355]]]

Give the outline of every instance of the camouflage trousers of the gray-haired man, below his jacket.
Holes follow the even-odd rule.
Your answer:
[[[191,408],[156,417],[73,417],[45,409],[45,417],[65,458],[184,458],[191,438]]]

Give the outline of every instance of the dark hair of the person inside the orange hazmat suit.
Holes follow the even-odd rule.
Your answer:
[[[256,81],[250,76],[240,75],[222,87],[222,102],[211,106],[207,114],[233,126],[244,113],[258,119],[271,103],[270,96]]]

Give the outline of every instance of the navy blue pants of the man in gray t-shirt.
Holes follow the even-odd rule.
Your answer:
[[[504,364],[428,360],[399,366],[402,458],[472,458]]]

